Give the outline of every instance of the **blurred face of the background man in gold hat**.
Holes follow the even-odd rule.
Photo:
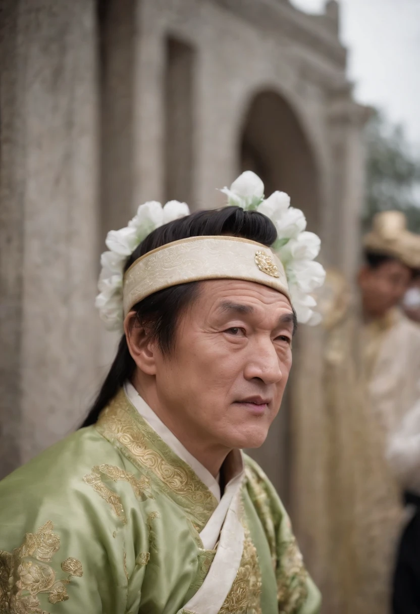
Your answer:
[[[397,260],[388,260],[377,268],[364,266],[359,273],[359,286],[367,314],[381,317],[399,305],[410,286],[411,271]]]

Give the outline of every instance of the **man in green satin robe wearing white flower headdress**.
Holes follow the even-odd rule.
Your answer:
[[[230,198],[253,211],[147,203],[109,233],[97,306],[124,334],[85,428],[0,484],[2,613],[319,612],[286,512],[241,453],[292,365],[293,281],[270,246],[305,247],[297,210],[251,175]]]

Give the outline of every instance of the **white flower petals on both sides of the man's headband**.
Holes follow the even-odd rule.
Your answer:
[[[317,324],[321,317],[313,311],[316,301],[311,296],[322,286],[325,271],[314,262],[321,241],[314,233],[306,232],[306,219],[299,209],[290,207],[284,192],[274,192],[264,198],[263,182],[255,173],[246,171],[221,190],[228,196],[228,204],[246,211],[259,211],[274,223],[278,238],[271,250],[286,272],[289,294],[299,322]],[[155,228],[190,214],[186,203],[169,201],[162,206],[151,201],[139,206],[136,216],[126,228],[111,230],[106,238],[109,251],[101,256],[99,294],[95,305],[108,330],[121,330],[123,323],[123,276],[126,261],[141,241]]]

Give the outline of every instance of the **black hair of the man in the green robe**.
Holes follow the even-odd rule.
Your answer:
[[[276,241],[277,231],[273,222],[257,211],[243,211],[232,206],[197,211],[152,231],[128,258],[125,270],[142,255],[167,243],[190,236],[220,235],[239,236],[270,247]],[[161,351],[166,354],[173,349],[179,317],[198,295],[198,284],[199,282],[189,282],[159,290],[133,307],[137,321],[147,325],[150,335],[157,340]],[[111,402],[125,381],[131,379],[135,366],[123,335],[117,356],[81,427],[95,424],[101,411]]]

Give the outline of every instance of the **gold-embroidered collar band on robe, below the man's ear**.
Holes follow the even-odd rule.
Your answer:
[[[166,488],[166,494],[192,518],[199,532],[203,529],[217,507],[216,497],[141,418],[123,389],[101,413],[95,428],[136,467],[149,469],[158,478],[158,487]]]

